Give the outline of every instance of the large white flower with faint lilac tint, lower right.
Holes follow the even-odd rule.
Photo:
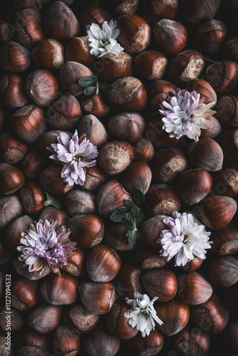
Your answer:
[[[204,225],[195,223],[192,214],[177,211],[168,216],[163,222],[170,228],[163,230],[160,239],[160,256],[170,261],[175,256],[175,266],[185,266],[194,256],[205,259],[205,248],[211,248],[212,241],[209,240],[209,231],[205,230]]]

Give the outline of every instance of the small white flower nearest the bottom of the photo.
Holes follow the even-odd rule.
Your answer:
[[[163,322],[156,315],[156,310],[153,306],[158,297],[150,300],[147,294],[134,293],[135,299],[125,298],[126,303],[132,305],[128,311],[124,313],[125,318],[130,318],[128,323],[141,331],[143,337],[150,334],[150,330],[155,330],[156,323],[162,325]]]

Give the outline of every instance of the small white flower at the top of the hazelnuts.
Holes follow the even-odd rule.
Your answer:
[[[87,26],[88,40],[90,41],[90,54],[95,57],[105,56],[107,53],[113,53],[115,56],[123,51],[123,47],[116,41],[119,36],[117,21],[104,21],[102,28],[96,23]]]

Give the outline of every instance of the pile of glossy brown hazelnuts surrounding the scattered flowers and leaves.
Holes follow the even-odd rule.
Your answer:
[[[237,356],[238,1],[7,2],[0,19],[0,354]],[[96,58],[86,28],[110,19],[124,51]],[[87,75],[113,91],[84,95],[78,80]],[[213,125],[198,142],[162,129],[158,110],[177,88],[215,103]],[[67,187],[47,147],[75,130],[99,155],[85,185]],[[110,215],[137,188],[155,216],[130,246]],[[46,192],[62,207],[45,206]],[[160,256],[157,239],[173,211],[191,212],[211,231],[205,260],[175,267]],[[39,276],[18,259],[21,233],[39,219],[57,219],[77,242],[61,276],[47,269]],[[124,317],[135,291],[159,297],[164,324],[146,337]]]

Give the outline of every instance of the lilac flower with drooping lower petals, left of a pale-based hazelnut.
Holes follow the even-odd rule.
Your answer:
[[[78,132],[74,132],[72,138],[65,132],[57,137],[58,144],[53,143],[47,150],[54,153],[51,159],[63,163],[61,177],[66,182],[67,187],[73,184],[84,185],[86,179],[86,167],[93,167],[96,164],[95,158],[98,157],[98,150],[86,135],[78,139]]]

